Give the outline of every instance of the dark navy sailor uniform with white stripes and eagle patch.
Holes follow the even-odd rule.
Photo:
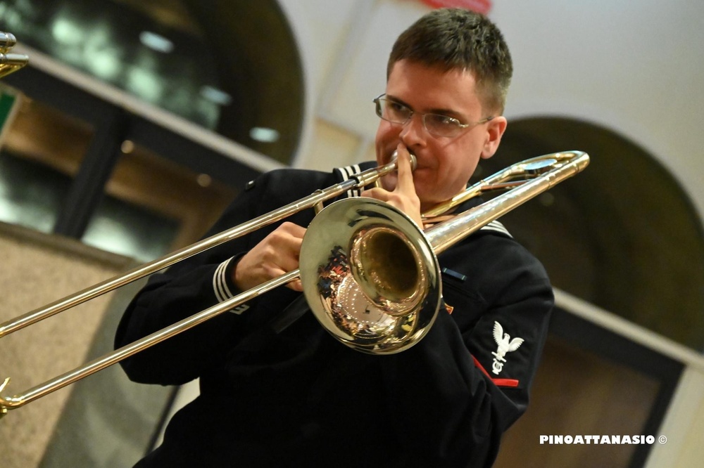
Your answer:
[[[209,235],[358,169],[264,174]],[[288,221],[308,226],[313,216],[306,210]],[[232,259],[275,226],[153,275],[122,318],[116,346],[237,294]],[[539,261],[497,222],[448,249],[439,263],[446,307],[425,338],[401,353],[350,349],[312,313],[275,331],[272,320],[301,306],[302,294],[281,287],[123,361],[137,382],[200,378],[200,396],[177,412],[163,445],[139,466],[491,465],[501,435],[527,406],[551,285]]]

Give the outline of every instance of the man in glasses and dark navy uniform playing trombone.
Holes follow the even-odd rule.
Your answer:
[[[411,25],[394,44],[386,89],[374,100],[377,164],[396,152],[398,171],[361,195],[422,226],[421,213],[460,193],[479,160],[496,152],[512,72],[501,32],[482,15],[440,9]],[[210,233],[373,164],[360,166],[264,174]],[[153,275],[122,318],[116,345],[298,268],[313,216],[298,212]],[[499,223],[438,260],[442,310],[425,337],[400,353],[374,356],[335,341],[304,313],[296,280],[123,361],[137,382],[200,378],[201,385],[163,444],[137,466],[491,465],[501,435],[526,409],[551,286]]]

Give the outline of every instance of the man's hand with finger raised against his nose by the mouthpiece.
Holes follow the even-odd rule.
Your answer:
[[[406,145],[403,145],[403,143],[398,144],[397,152],[398,173],[394,190],[389,191],[384,188],[375,187],[370,190],[364,190],[361,195],[363,197],[376,198],[377,200],[390,204],[392,207],[400,209],[422,228],[420,199],[415,193],[415,186],[413,185],[413,169],[410,167],[410,154],[408,153],[408,149],[406,149]]]

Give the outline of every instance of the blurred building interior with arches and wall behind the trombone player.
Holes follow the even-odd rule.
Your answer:
[[[263,171],[374,159],[396,36],[439,4],[503,31],[515,75],[476,178],[583,150],[505,216],[558,299],[496,466],[695,467],[704,448],[704,4],[674,0],[0,0],[0,321],[200,238]],[[111,349],[132,289],[0,341],[4,395]],[[109,369],[0,421],[6,467],[132,466],[196,386]],[[546,445],[540,435],[653,435]],[[658,443],[658,436],[667,443]]]

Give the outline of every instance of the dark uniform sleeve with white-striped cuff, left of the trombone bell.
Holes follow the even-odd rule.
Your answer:
[[[265,199],[269,176],[250,183],[206,234],[220,233],[254,217]],[[115,334],[115,347],[168,327],[194,313],[234,297],[239,291],[230,279],[237,256],[249,250],[252,239],[239,238],[181,261],[149,278],[132,299]],[[160,344],[123,360],[130,379],[151,384],[183,384],[218,365],[223,351],[244,332],[241,312],[256,300],[220,314]]]

